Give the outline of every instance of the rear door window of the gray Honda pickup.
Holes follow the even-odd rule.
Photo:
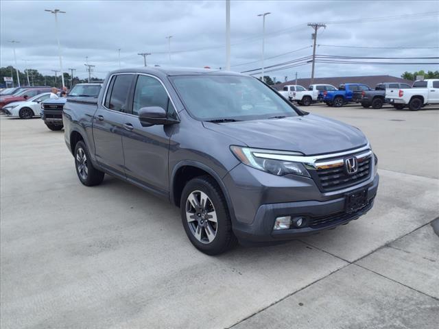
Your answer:
[[[132,74],[115,75],[110,81],[107,90],[104,106],[110,110],[127,112],[128,111],[128,92],[130,91]]]

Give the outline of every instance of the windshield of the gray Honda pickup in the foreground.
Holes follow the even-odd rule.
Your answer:
[[[198,120],[255,120],[295,117],[278,93],[254,77],[179,75],[170,77],[186,110]]]

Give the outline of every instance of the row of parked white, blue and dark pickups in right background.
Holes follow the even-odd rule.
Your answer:
[[[335,88],[331,84],[311,84],[308,90],[300,85],[291,84],[278,90],[289,101],[309,106],[322,101],[327,106],[340,107],[347,103],[361,103],[364,108],[382,108],[390,103],[396,109],[405,106],[410,110],[419,110],[427,104],[439,103],[439,80],[418,80],[413,86],[397,82],[383,82],[375,90],[366,84],[341,84]],[[416,88],[416,90],[410,90]],[[409,90],[407,90],[409,89]],[[405,92],[407,90],[407,92]]]

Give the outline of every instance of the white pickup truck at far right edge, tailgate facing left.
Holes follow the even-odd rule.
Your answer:
[[[386,89],[385,98],[398,110],[408,105],[417,111],[427,104],[439,104],[439,79],[417,80],[411,89]]]

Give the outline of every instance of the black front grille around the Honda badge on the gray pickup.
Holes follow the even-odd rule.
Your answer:
[[[346,156],[349,158],[353,155]],[[320,191],[330,192],[340,190],[355,184],[359,184],[370,178],[372,170],[372,154],[357,159],[358,169],[356,173],[349,174],[346,171],[344,159],[339,167],[311,170],[311,176]]]

